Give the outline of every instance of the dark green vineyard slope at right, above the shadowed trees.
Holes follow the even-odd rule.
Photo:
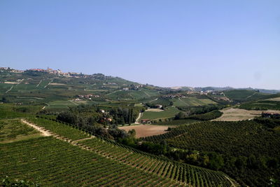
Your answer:
[[[146,137],[146,141],[166,139],[170,146],[199,151],[216,151],[228,155],[278,155],[279,134],[265,130],[254,121],[212,121],[181,125],[170,132]]]

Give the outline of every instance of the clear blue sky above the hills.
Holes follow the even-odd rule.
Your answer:
[[[0,1],[0,67],[280,89],[280,1]]]

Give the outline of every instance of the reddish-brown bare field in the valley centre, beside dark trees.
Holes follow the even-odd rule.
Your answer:
[[[153,135],[164,134],[166,133],[168,126],[167,125],[132,125],[119,127],[119,129],[123,129],[125,131],[129,131],[134,129],[136,131],[136,137],[150,137]]]

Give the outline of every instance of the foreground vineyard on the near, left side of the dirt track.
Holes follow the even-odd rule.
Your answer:
[[[0,145],[0,177],[42,186],[178,186],[171,180],[84,151],[52,137]]]

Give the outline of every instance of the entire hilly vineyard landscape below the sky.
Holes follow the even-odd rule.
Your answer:
[[[3,183],[266,186],[279,180],[276,90],[161,88],[104,74],[5,68],[0,88]],[[42,168],[48,160],[51,166]]]

